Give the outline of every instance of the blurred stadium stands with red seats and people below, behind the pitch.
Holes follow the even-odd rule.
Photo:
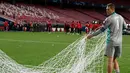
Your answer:
[[[88,33],[102,25],[106,18],[106,4],[110,2],[116,5],[117,13],[130,27],[128,0],[2,0],[0,29]]]

